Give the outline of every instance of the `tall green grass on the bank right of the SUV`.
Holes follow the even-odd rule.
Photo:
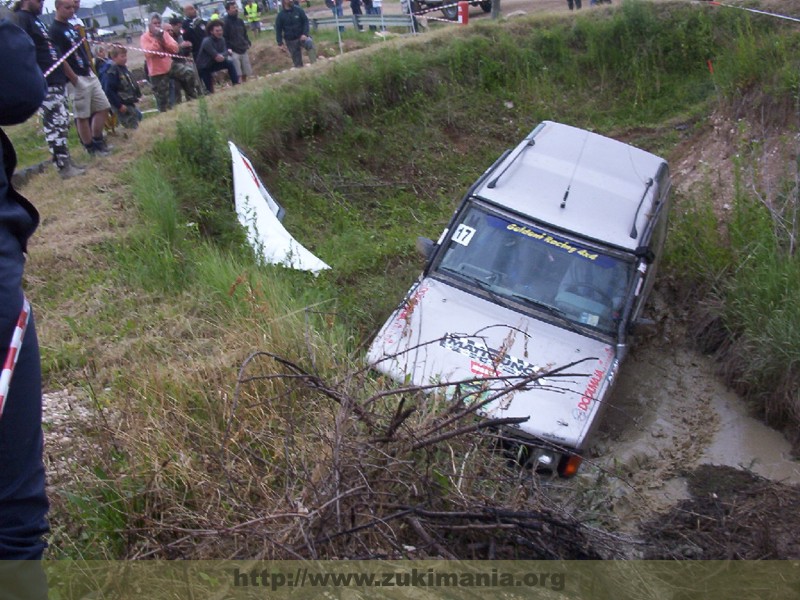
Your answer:
[[[704,307],[698,340],[715,350],[726,379],[768,422],[791,432],[800,421],[798,191],[784,185],[783,198],[767,203],[737,179],[732,215],[722,224],[709,197],[683,205],[667,266],[694,286],[692,299]]]

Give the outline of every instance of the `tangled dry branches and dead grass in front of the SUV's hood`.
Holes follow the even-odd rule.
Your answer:
[[[611,536],[548,506],[536,476],[493,450],[519,419],[476,417],[536,377],[482,380],[482,394],[453,400],[437,386],[387,391],[365,369],[326,381],[254,353],[206,461],[202,486],[224,482],[214,509],[136,530],[136,556],[614,556]]]

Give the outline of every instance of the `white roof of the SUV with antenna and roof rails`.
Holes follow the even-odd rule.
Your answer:
[[[473,193],[541,223],[635,250],[652,216],[662,165],[664,159],[629,144],[545,121]]]

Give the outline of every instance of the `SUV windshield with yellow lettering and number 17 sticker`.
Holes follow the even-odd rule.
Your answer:
[[[634,261],[472,204],[434,272],[496,300],[614,335]]]

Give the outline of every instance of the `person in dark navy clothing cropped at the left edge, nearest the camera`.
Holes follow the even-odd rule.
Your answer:
[[[0,56],[0,125],[15,125],[38,110],[47,83],[33,41],[5,19],[0,20]],[[14,332],[27,316],[7,391],[0,377],[0,596],[46,600],[47,581],[38,562],[49,509],[42,461],[42,374],[36,326],[22,291],[28,238],[39,213],[11,183],[17,157],[2,129],[0,161],[0,363],[10,364]]]

